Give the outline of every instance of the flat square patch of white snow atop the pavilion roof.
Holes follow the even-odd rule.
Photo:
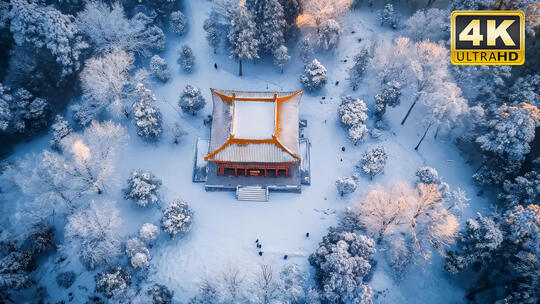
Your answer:
[[[275,130],[275,102],[234,101],[233,130],[235,138],[271,139]]]

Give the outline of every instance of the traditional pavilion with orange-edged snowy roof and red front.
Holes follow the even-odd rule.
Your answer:
[[[214,109],[205,160],[218,175],[289,176],[299,163],[302,91],[212,91]]]

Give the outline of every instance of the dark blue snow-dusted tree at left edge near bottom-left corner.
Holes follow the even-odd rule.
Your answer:
[[[30,251],[12,250],[0,259],[0,287],[19,290],[32,286],[30,273],[35,268]]]

